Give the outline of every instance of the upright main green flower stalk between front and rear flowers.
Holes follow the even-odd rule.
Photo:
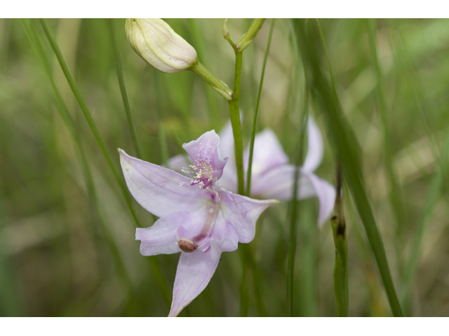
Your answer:
[[[243,139],[241,136],[241,124],[239,113],[239,99],[240,99],[240,81],[241,81],[241,66],[243,60],[243,53],[236,51],[236,69],[234,77],[234,94],[232,100],[229,101],[229,113],[231,114],[232,132],[234,134],[234,146],[236,154],[237,179],[240,195],[244,195],[243,182]]]

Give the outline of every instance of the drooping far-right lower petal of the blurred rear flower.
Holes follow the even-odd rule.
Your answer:
[[[335,188],[330,183],[320,179],[315,174],[304,172],[303,175],[309,179],[311,184],[314,186],[316,196],[320,202],[318,226],[321,228],[334,209],[336,195]]]

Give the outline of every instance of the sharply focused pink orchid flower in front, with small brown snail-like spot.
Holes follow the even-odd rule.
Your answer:
[[[220,154],[215,131],[182,145],[192,165],[188,178],[173,170],[133,158],[119,149],[126,184],[135,200],[159,217],[138,228],[142,255],[181,253],[170,314],[177,316],[208,285],[225,251],[249,243],[262,211],[276,200],[253,200],[217,188],[227,158]],[[189,167],[187,169],[186,167]]]

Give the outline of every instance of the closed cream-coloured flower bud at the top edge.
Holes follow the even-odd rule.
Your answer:
[[[127,19],[126,36],[145,62],[166,73],[190,69],[196,50],[161,19]]]

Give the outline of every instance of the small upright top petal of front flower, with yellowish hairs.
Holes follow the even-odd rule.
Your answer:
[[[218,134],[212,130],[204,133],[194,141],[183,144],[182,148],[189,154],[194,165],[209,165],[214,171],[215,178],[220,179],[228,159],[222,159],[220,148],[218,148],[219,144],[220,137],[218,137]]]

